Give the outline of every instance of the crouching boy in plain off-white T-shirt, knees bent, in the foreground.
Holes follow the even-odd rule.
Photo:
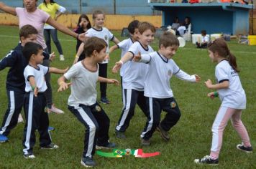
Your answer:
[[[58,79],[58,91],[67,90],[71,81],[71,95],[68,98],[68,109],[86,127],[83,156],[81,165],[93,167],[95,149],[114,148],[114,143],[109,143],[110,120],[106,112],[96,101],[97,82],[119,84],[116,79],[99,77],[99,63],[106,57],[107,44],[104,39],[91,37],[84,44],[86,58],[76,64]]]

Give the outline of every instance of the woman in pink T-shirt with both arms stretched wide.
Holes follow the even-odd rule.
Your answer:
[[[52,19],[50,15],[47,14],[45,11],[37,9],[37,0],[23,0],[23,4],[24,8],[14,8],[11,6],[6,6],[3,2],[0,2],[0,9],[2,11],[5,11],[6,13],[18,16],[19,28],[26,24],[33,25],[35,29],[37,29],[38,31],[37,43],[42,46],[45,52],[48,53],[43,35],[45,24],[50,24],[51,26],[55,27],[55,29],[58,29],[60,32],[75,37],[76,39],[80,39],[81,41],[83,41],[86,38],[84,34],[76,34],[76,32],[70,31],[70,29],[66,28],[62,24],[59,24],[57,21]],[[50,61],[46,59],[43,64],[45,66],[49,66]],[[63,113],[62,110],[57,109],[52,104],[52,88],[50,86],[50,74],[45,75],[45,80],[47,83],[45,97],[47,100],[47,107],[49,112]]]

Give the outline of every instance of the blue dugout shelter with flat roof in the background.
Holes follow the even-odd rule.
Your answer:
[[[200,34],[203,29],[207,34],[248,34],[249,32],[251,5],[235,3],[153,3],[150,5],[156,10],[163,11],[162,24],[165,26],[171,25],[176,16],[180,22],[183,22],[186,16],[191,17],[194,34]]]

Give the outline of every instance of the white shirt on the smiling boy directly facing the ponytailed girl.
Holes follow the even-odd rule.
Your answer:
[[[149,68],[145,77],[144,95],[154,98],[173,97],[173,90],[170,88],[170,78],[175,75],[179,79],[189,82],[196,82],[195,75],[183,72],[173,59],[167,59],[158,52],[142,54],[140,62],[148,63]]]

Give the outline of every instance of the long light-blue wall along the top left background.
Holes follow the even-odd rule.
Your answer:
[[[3,1],[3,0],[2,0]],[[4,0],[5,4],[9,6],[22,6],[22,0]],[[42,0],[38,0],[40,4]],[[69,13],[91,14],[95,10],[102,10],[105,14],[114,14],[114,0],[55,0],[56,3],[64,6]],[[160,12],[151,9],[147,0],[116,0],[116,14],[129,14],[129,15],[152,15],[160,14]]]

